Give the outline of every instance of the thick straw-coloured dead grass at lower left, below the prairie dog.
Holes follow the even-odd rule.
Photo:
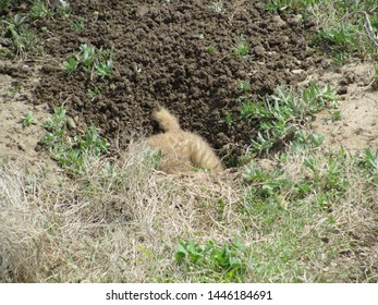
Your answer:
[[[221,217],[232,224],[232,175],[166,175],[147,151],[131,145],[118,166],[99,160],[60,185],[2,170],[1,281],[158,281],[179,239],[227,239],[214,198],[227,195]]]

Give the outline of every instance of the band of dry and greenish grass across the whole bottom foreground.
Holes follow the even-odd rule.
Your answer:
[[[310,178],[306,154],[280,161],[285,176]],[[2,169],[0,281],[227,281],[176,264],[179,242],[190,240],[242,244],[239,281],[378,281],[378,191],[353,162],[343,163],[346,192],[325,209],[315,182],[306,196],[291,184],[259,197],[251,194],[261,185],[241,171],[167,175],[155,161],[132,144],[117,164],[96,160],[76,180]]]

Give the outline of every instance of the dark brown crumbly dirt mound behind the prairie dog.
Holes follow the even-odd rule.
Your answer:
[[[64,103],[78,125],[94,122],[113,147],[127,145],[130,135],[156,133],[150,112],[162,105],[222,157],[240,155],[258,122],[240,119],[239,83],[249,82],[257,98],[303,81],[316,63],[305,41],[313,23],[301,15],[271,15],[263,1],[136,2],[70,2],[70,20],[85,20],[81,32],[59,17],[37,22],[47,28],[39,35],[57,65],[50,59],[42,66],[34,102]],[[82,44],[114,50],[112,78],[83,72],[68,76],[59,69]],[[248,46],[246,56],[235,54],[241,45]],[[100,96],[92,101],[87,93],[94,87]],[[233,115],[231,125],[228,114]]]

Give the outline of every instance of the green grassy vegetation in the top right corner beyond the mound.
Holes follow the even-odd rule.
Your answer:
[[[377,2],[369,1],[319,1],[271,0],[270,12],[296,12],[315,19],[319,30],[314,42],[331,52],[338,65],[352,56],[377,58],[378,19]]]

